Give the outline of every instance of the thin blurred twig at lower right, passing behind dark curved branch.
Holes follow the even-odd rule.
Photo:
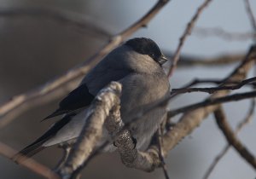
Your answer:
[[[250,105],[250,109],[247,113],[246,118],[244,118],[243,120],[241,120],[241,123],[238,124],[236,126],[236,130],[235,130],[235,134],[238,134],[239,131],[246,125],[248,124],[252,118],[253,118],[253,113],[255,111],[255,99],[252,99],[251,105]],[[212,164],[209,166],[209,168],[207,169],[205,175],[203,176],[204,179],[208,179],[209,176],[211,175],[212,171],[214,170],[214,168],[216,167],[216,165],[218,165],[218,162],[220,161],[220,159],[222,159],[224,157],[224,155],[229,151],[230,149],[230,144],[227,144],[223,150],[218,153],[218,155],[216,156],[216,158],[212,161]]]

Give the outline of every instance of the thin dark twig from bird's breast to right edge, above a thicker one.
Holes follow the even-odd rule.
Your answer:
[[[256,77],[248,78],[241,83],[236,85],[230,86],[219,86],[219,87],[212,87],[212,88],[181,88],[181,89],[172,89],[171,95],[180,94],[180,93],[191,93],[191,92],[206,92],[212,94],[218,90],[238,90],[246,84],[251,84],[252,82],[256,82]]]

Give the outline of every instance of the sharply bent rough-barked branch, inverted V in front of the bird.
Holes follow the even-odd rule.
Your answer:
[[[73,178],[79,174],[84,162],[90,158],[95,150],[96,142],[102,135],[102,127],[105,124],[110,136],[113,137],[122,162],[127,167],[138,170],[152,171],[160,165],[158,148],[149,149],[147,152],[137,150],[132,140],[130,130],[124,129],[125,124],[120,118],[119,96],[121,85],[112,82],[96,95],[88,109],[86,124],[79,135],[79,139],[72,148],[67,161],[57,173],[61,178]]]

